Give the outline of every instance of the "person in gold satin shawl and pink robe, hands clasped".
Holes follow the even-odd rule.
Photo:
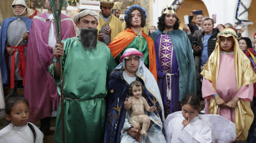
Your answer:
[[[236,124],[237,140],[246,140],[253,122],[250,102],[256,83],[250,60],[239,49],[233,29],[225,28],[217,35],[216,47],[201,75],[205,113],[219,114]]]

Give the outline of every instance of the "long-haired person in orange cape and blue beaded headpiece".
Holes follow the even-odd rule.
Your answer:
[[[154,42],[150,36],[145,34],[142,27],[146,24],[146,11],[140,5],[130,6],[125,12],[125,22],[127,29],[119,33],[108,45],[116,62],[128,48],[136,48],[143,53],[145,66],[156,76],[156,56]]]

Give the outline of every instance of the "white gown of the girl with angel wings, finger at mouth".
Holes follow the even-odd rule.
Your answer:
[[[181,112],[180,112],[181,113]],[[182,114],[177,114],[169,123],[165,123],[165,138],[167,143],[211,143],[211,128],[195,117],[184,127],[182,121],[185,118]],[[165,120],[167,121],[167,120]]]

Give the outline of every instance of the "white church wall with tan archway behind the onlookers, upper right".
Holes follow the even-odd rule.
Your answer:
[[[161,2],[160,2],[161,1]],[[161,15],[162,8],[166,5],[170,6],[176,0],[155,0],[153,2],[152,17],[153,25],[157,26],[157,18]],[[225,24],[236,22],[235,14],[238,0],[185,0],[181,7],[177,10],[177,17],[180,19],[180,29],[184,26],[184,15],[190,15],[190,9],[203,10],[204,15],[212,17],[213,14],[217,15],[216,24]],[[248,19],[250,22],[254,22],[249,26],[242,36],[253,39],[253,35],[256,32],[256,0],[252,0]],[[206,8],[206,9],[205,9]],[[194,20],[193,20],[194,21]]]

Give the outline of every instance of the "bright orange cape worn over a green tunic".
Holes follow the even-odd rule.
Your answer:
[[[136,33],[134,33],[133,30],[131,30],[130,28],[127,28],[123,32],[120,32],[108,45],[112,56],[116,58],[134,40],[135,36]],[[149,70],[154,75],[157,81],[154,41],[144,32],[142,32],[142,36],[146,39],[148,43],[148,56],[150,62]]]

